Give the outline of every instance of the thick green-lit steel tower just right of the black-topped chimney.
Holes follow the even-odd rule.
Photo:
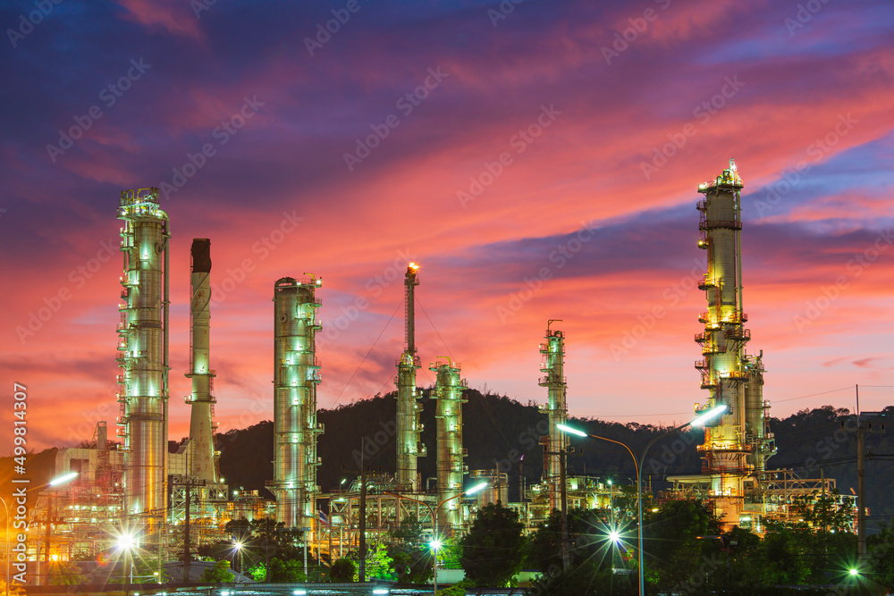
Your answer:
[[[287,528],[305,528],[312,537],[316,519],[316,319],[323,280],[313,275],[274,284],[274,480],[276,519]]]

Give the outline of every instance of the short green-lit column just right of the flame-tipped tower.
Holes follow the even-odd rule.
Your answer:
[[[450,357],[438,357],[428,369],[436,374],[432,398],[437,399],[437,498],[438,503],[447,501],[438,514],[438,526],[450,534],[459,529],[462,522],[459,495],[462,494],[462,476],[468,472],[468,466],[463,464],[466,450],[462,447],[466,381],[460,379],[460,364],[451,362]]]

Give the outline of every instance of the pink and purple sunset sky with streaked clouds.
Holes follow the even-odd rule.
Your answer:
[[[323,278],[318,407],[392,390],[409,261],[420,386],[449,355],[542,403],[558,319],[571,416],[687,420],[696,188],[730,159],[772,415],[853,409],[856,384],[894,404],[886,0],[7,0],[0,24],[0,366],[32,448],[114,426],[116,207],[149,186],[173,234],[172,439],[197,237],[221,432],[273,417],[285,276]]]

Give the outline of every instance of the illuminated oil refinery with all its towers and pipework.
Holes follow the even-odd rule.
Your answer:
[[[793,470],[767,466],[776,447],[767,425],[770,404],[763,399],[763,351],[747,351],[752,336],[745,326],[748,316],[743,300],[743,188],[731,160],[721,175],[697,188],[704,195],[696,205],[697,247],[707,255],[707,270],[698,288],[704,290],[707,310],[697,316],[704,325],[695,336],[701,351],[696,369],[704,404],[696,404],[695,413],[720,406],[726,409],[708,424],[704,443],[697,447],[704,463],[702,474],[671,476],[671,491],[662,498],[708,499],[726,528],[738,525],[761,533],[768,520],[794,515],[790,507],[794,497],[831,493],[835,481],[801,478]],[[126,535],[139,541],[140,548],[157,561],[159,574],[172,562],[184,561],[177,573],[186,578],[190,552],[230,539],[225,525],[243,517],[273,517],[284,528],[301,530],[316,558],[332,561],[336,553],[363,552],[368,541],[400,527],[409,516],[426,532],[432,528],[432,537],[456,537],[468,531],[478,508],[492,502],[516,510],[527,531],[544,523],[556,509],[614,507],[621,490],[618,484],[604,477],[569,473],[566,456],[571,446],[560,426],[569,421],[567,396],[575,381],[569,382],[565,375],[567,338],[561,331],[562,321],[550,319],[549,313],[543,315],[539,375],[531,371],[532,386],[543,388],[541,412],[548,428],[540,438],[544,453],[540,482],[522,486],[519,501],[510,502],[504,470],[468,469],[468,449],[463,443],[467,381],[460,363],[434,351],[429,351],[427,370],[434,374],[430,398],[435,402],[436,441],[434,453],[426,451],[416,338],[417,290],[425,291],[425,285],[420,285],[424,270],[417,263],[407,265],[404,277],[405,342],[401,354],[395,355],[397,403],[389,449],[394,449],[396,465],[383,471],[361,463],[354,471],[357,480],[332,491],[321,490],[317,483],[318,469],[327,466],[318,455],[319,437],[340,432],[325,429],[317,421],[317,387],[324,382],[321,371],[325,370],[316,353],[316,335],[322,330],[317,311],[322,304],[319,294],[325,291],[323,279],[317,274],[292,277],[285,272],[273,281],[270,403],[274,449],[269,456],[274,476],[267,483],[274,495],[271,501],[257,491],[233,490],[238,487],[228,486],[219,471],[210,341],[212,240],[193,239],[189,369],[184,372],[192,384],[185,399],[190,407],[190,433],[177,452],[169,453],[171,408],[181,407],[169,399],[173,373],[169,354],[171,218],[161,209],[154,188],[122,192],[117,214],[123,222],[123,263],[116,357],[120,416],[114,427],[121,446],[110,446],[111,424],[97,420],[91,447],[58,451],[55,473],[76,472],[80,481],[72,487],[46,488],[32,509],[29,533],[33,540],[27,555],[37,567],[36,577],[41,565],[67,560],[74,552],[101,557]],[[423,457],[434,459],[436,474],[429,482],[419,472]],[[467,494],[467,479],[483,490]],[[848,499],[839,497],[839,504]],[[325,521],[321,511],[328,512]],[[360,574],[362,578],[362,567]]]

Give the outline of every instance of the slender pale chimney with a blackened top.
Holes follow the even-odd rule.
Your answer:
[[[189,473],[208,483],[217,482],[215,466],[215,439],[212,408],[215,398],[212,387],[215,372],[210,370],[211,331],[211,240],[192,240],[192,273],[190,288],[190,372],[192,395],[186,399],[191,406],[190,414],[190,466]]]

